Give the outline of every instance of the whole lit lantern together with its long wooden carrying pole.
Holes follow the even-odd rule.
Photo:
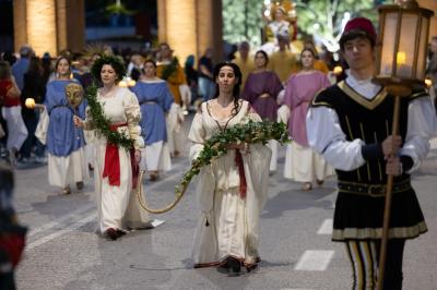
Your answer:
[[[394,96],[393,136],[399,130],[401,97],[410,96],[415,87],[425,87],[429,19],[434,14],[430,10],[420,8],[415,0],[398,2],[378,9],[379,39],[374,78],[375,83],[383,85]],[[379,290],[383,285],[392,189],[393,176],[388,176],[379,256]]]

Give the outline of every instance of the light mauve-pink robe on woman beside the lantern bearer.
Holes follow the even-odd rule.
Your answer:
[[[291,109],[288,132],[297,144],[308,146],[305,125],[308,105],[317,93],[330,85],[326,74],[319,71],[297,73],[288,78],[284,104]]]

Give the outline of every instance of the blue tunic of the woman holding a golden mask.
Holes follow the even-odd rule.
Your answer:
[[[82,129],[73,124],[74,108],[67,100],[66,86],[73,81],[55,80],[47,84],[44,105],[49,114],[47,130],[47,150],[54,156],[68,156],[83,147],[85,140]],[[76,114],[85,118],[86,101],[82,101],[76,109]]]

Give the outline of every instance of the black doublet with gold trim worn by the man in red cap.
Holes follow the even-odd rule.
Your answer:
[[[401,99],[400,135],[405,141],[409,102],[424,93]],[[391,134],[394,98],[381,89],[371,100],[366,99],[345,82],[322,90],[311,107],[335,110],[346,141],[361,138],[377,144]],[[333,241],[349,239],[380,239],[382,233],[387,174],[382,155],[367,158],[358,169],[335,170],[339,195],[335,203]],[[411,239],[427,231],[410,176],[394,178],[389,238]]]

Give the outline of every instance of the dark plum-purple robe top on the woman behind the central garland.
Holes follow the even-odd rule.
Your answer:
[[[276,122],[276,97],[282,88],[281,81],[274,72],[249,73],[241,98],[250,102],[262,120]],[[260,98],[264,93],[270,97]]]

